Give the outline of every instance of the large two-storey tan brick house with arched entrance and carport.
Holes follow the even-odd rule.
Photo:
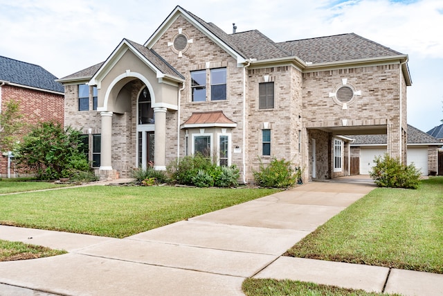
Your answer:
[[[102,178],[200,152],[237,165],[244,182],[260,159],[288,159],[307,182],[348,174],[343,134],[388,134],[406,162],[407,62],[354,33],[275,43],[177,6],[143,45],[123,39],[57,81]]]

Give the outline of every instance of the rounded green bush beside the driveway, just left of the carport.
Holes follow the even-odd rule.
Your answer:
[[[260,170],[254,172],[254,179],[262,187],[288,188],[296,184],[298,175],[291,162],[273,158],[269,165],[260,159]]]

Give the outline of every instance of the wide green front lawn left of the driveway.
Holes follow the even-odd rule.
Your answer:
[[[123,238],[275,189],[87,186],[3,195],[0,224]]]

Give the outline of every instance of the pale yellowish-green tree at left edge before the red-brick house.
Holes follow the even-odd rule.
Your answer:
[[[11,100],[0,113],[0,152],[11,151],[21,136],[24,123],[21,121],[19,103]]]

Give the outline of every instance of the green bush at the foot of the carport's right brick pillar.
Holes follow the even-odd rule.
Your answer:
[[[385,154],[374,159],[375,166],[370,171],[370,176],[379,187],[417,189],[419,178],[422,175],[413,164],[401,164],[399,157],[390,157]]]

